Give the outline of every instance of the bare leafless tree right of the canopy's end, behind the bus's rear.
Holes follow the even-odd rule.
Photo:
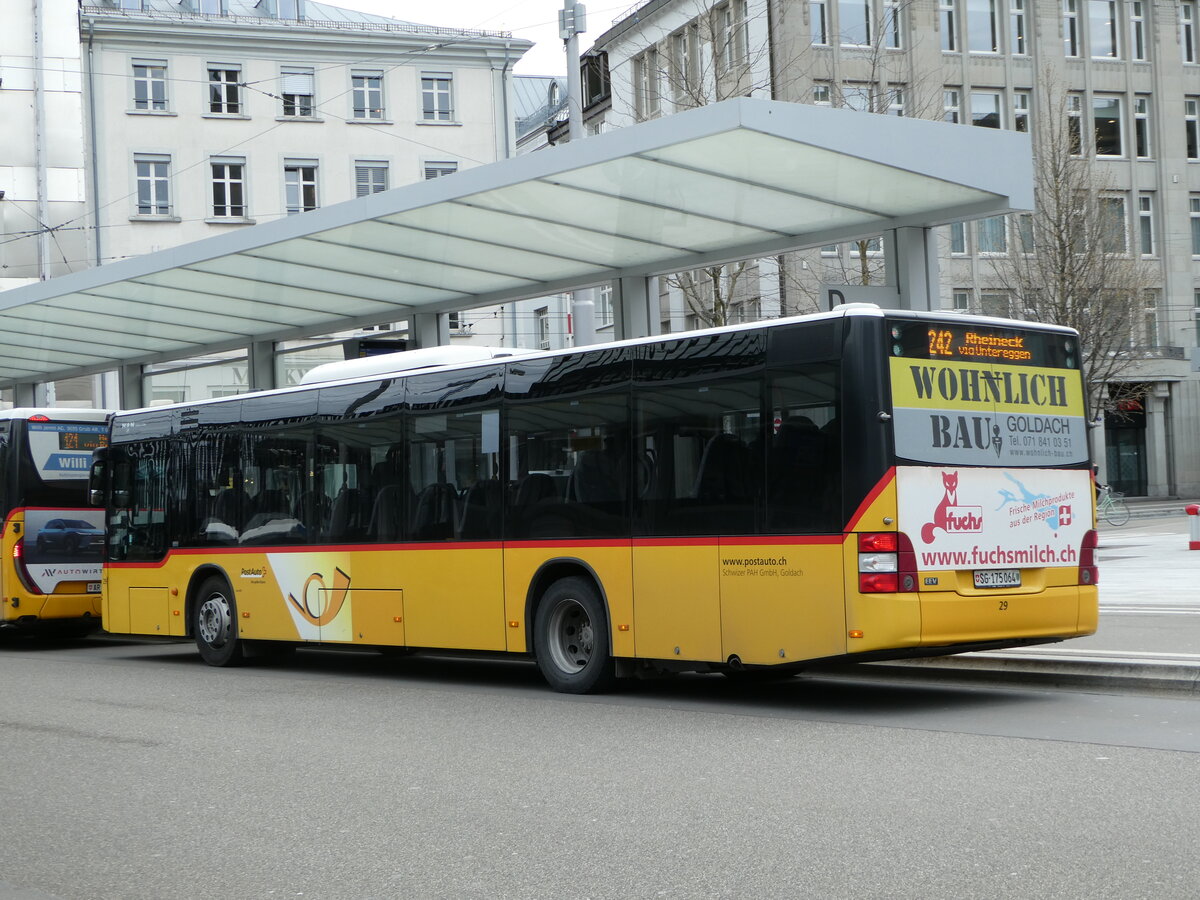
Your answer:
[[[1140,395],[1135,347],[1156,282],[1129,246],[1124,197],[1097,164],[1081,110],[1052,77],[1042,80],[1050,86],[1034,128],[1034,210],[1009,217],[1014,246],[991,269],[1015,318],[1079,331],[1091,418]]]

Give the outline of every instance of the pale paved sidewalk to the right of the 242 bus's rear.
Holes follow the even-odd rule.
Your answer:
[[[1128,499],[1130,520],[1100,523],[1100,625],[1052,644],[904,664],[1046,686],[1134,686],[1200,692],[1200,551],[1188,550],[1196,500]]]

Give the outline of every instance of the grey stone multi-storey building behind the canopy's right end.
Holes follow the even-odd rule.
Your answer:
[[[1140,401],[1094,437],[1102,476],[1130,494],[1200,494],[1200,34],[1194,0],[650,0],[593,53],[620,127],[727,96],[770,96],[967,126],[1038,128],[1052,86],[1104,179],[1130,258],[1152,272],[1130,334]],[[1040,113],[1044,114],[1044,113]],[[1016,314],[992,262],[1012,221],[942,229],[941,305]],[[876,281],[877,240],[755,260],[743,317],[815,308],[821,283]],[[787,271],[782,275],[780,266]],[[664,328],[678,320],[664,292]],[[686,325],[692,323],[685,322]]]

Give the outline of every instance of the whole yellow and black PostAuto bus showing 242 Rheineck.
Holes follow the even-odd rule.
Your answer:
[[[118,413],[104,628],[528,654],[570,692],[1091,634],[1078,342],[848,305]]]

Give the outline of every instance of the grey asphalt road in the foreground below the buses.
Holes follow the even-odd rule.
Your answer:
[[[1200,702],[0,649],[0,898],[1194,898]]]

